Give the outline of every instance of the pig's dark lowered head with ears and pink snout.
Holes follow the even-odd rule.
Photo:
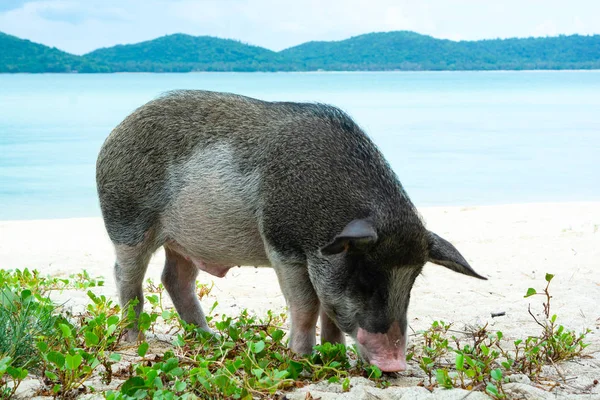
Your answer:
[[[366,361],[391,372],[406,369],[410,291],[427,261],[486,278],[420,221],[401,234],[385,231],[370,220],[350,222],[309,271],[329,317],[355,339]]]

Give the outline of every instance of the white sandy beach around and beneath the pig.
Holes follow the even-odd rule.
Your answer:
[[[507,384],[514,398],[600,398],[600,203],[522,204],[482,207],[435,207],[419,210],[428,229],[451,241],[473,268],[489,278],[479,281],[428,264],[417,279],[409,309],[410,329],[424,329],[442,319],[456,327],[489,324],[508,338],[526,337],[538,327],[527,312],[541,313],[541,298],[525,299],[529,287],[543,288],[544,274],[552,282],[552,311],[570,329],[591,329],[588,358],[548,368],[548,376],[561,385],[546,392],[530,383]],[[52,275],[87,270],[104,276],[101,292],[116,298],[112,266],[113,250],[100,218],[0,222],[0,268],[30,268]],[[153,257],[147,277],[158,280],[164,254]],[[203,300],[208,309],[219,301],[217,312],[233,315],[247,308],[259,315],[282,310],[285,301],[275,273],[269,268],[242,267],[225,278],[201,274],[201,282],[214,281]],[[74,305],[85,300],[69,298]],[[506,315],[492,318],[491,313]],[[356,380],[349,393],[335,393],[335,385],[314,385],[289,398],[462,398],[468,392],[416,387],[418,366],[393,380],[382,390]],[[562,378],[560,377],[562,375]],[[512,385],[512,386],[510,386]],[[399,386],[399,387],[396,387]],[[480,393],[470,395],[476,399]],[[485,395],[481,394],[487,398]],[[374,397],[369,397],[374,396]]]

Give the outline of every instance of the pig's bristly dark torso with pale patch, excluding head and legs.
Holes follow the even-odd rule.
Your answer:
[[[219,228],[208,231],[241,243],[240,252],[263,239],[259,219],[268,240],[301,252],[373,203],[403,198],[379,151],[339,109],[204,91],[169,94],[127,117],[100,152],[97,182],[115,242],[139,243],[160,222],[184,242],[192,226]]]

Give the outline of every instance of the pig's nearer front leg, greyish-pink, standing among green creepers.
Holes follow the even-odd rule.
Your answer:
[[[289,347],[299,354],[310,354],[315,343],[319,299],[305,265],[277,264],[274,267],[285,297],[292,326]]]

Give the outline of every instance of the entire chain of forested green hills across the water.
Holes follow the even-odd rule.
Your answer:
[[[0,73],[538,69],[600,69],[600,35],[452,41],[396,31],[275,52],[231,39],[173,34],[79,56],[0,32]]]

